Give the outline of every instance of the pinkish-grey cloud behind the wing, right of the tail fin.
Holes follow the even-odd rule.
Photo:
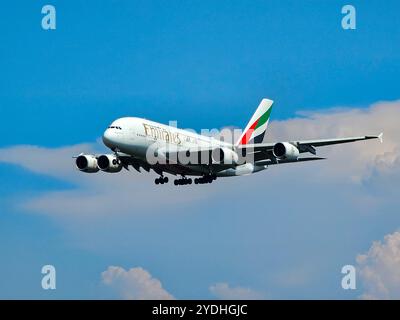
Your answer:
[[[316,173],[318,180],[323,177],[331,181],[349,179],[361,183],[371,175],[379,157],[399,150],[400,101],[380,102],[366,109],[333,109],[331,112],[307,115],[305,118],[272,122],[268,141],[377,135],[384,132],[383,144],[375,140],[319,148],[318,153],[328,157],[328,164]]]

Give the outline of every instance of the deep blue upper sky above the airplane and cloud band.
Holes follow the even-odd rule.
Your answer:
[[[131,114],[242,127],[264,96],[278,119],[397,98],[396,1],[353,1],[356,32],[341,28],[340,1],[53,4],[54,32],[40,27],[42,3],[3,4],[1,102],[21,124],[3,124],[14,131],[3,144],[91,141]]]

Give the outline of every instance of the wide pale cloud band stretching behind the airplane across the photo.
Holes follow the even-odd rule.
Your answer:
[[[297,165],[304,168],[298,171],[307,175],[310,182],[327,183],[328,181],[349,181],[350,183],[368,183],[377,179],[390,169],[399,167],[400,102],[383,102],[368,109],[340,109],[325,113],[309,113],[306,118],[295,118],[286,121],[274,121],[268,132],[269,141],[291,139],[311,139],[347,135],[378,134],[385,132],[385,143],[377,141],[358,142],[349,145],[321,148],[321,155],[329,160],[318,170],[317,164]],[[172,183],[155,187],[154,173],[150,176],[144,172],[120,174],[85,174],[74,167],[73,155],[80,152],[94,152],[98,144],[81,144],[61,148],[42,148],[37,146],[15,146],[0,149],[0,162],[20,165],[32,172],[49,175],[71,182],[75,189],[49,191],[47,193],[24,199],[23,209],[41,214],[59,215],[79,219],[116,214],[148,214],[151,211],[172,208],[185,203],[205,201],[221,194],[237,196],[238,188],[231,188],[227,183],[217,181],[213,185],[185,186],[177,189]],[[284,165],[296,166],[296,165]],[[277,166],[278,167],[278,166]],[[289,172],[286,168],[272,167],[268,174],[272,179],[275,171]],[[400,170],[399,170],[400,172]],[[234,179],[234,178],[232,178]],[[255,181],[262,178],[255,177]],[[242,178],[242,185],[246,180]],[[250,183],[254,186],[254,182]],[[178,191],[179,190],[179,191]],[[154,195],[157,194],[157,201]],[[134,200],[134,206],[132,205]],[[363,200],[365,202],[368,200]],[[373,202],[373,200],[370,200]],[[134,210],[132,209],[134,208]]]

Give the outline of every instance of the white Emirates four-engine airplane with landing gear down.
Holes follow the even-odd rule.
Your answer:
[[[171,174],[179,178],[175,185],[212,183],[219,177],[242,176],[265,170],[270,165],[323,160],[316,148],[361,140],[379,139],[359,136],[336,139],[265,143],[273,101],[262,99],[243,133],[235,143],[200,135],[150,120],[124,117],[115,120],[104,132],[103,143],[110,154],[84,154],[76,158],[76,167],[87,173],[117,173],[129,166],[138,172],[153,170],[159,175],[155,184],[168,183]],[[309,153],[312,156],[303,156]]]

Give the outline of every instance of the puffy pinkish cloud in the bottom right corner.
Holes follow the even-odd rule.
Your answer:
[[[374,242],[366,254],[357,256],[364,299],[400,299],[400,232]]]

